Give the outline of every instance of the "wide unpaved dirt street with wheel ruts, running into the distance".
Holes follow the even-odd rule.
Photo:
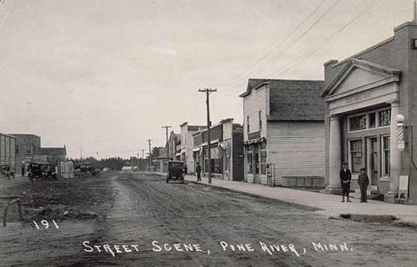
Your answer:
[[[1,230],[0,263],[4,266],[413,266],[417,263],[417,230],[413,228],[329,220],[308,208],[193,183],[167,184],[156,175],[102,174],[95,182],[91,181],[84,186],[105,187],[104,192],[114,193],[114,199],[110,193],[100,199],[111,203],[96,205],[100,216],[63,220],[59,229],[37,230],[33,223],[10,223]],[[280,251],[263,249],[259,242],[274,244]],[[340,251],[340,247],[338,251],[316,251],[312,242],[343,244],[342,247],[346,242],[348,251]],[[105,249],[103,245],[109,247]],[[294,247],[292,251],[290,245]],[[237,251],[238,247],[245,251]]]

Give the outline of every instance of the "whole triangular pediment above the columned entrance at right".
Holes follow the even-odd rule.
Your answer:
[[[358,93],[376,86],[399,81],[401,71],[371,61],[351,59],[323,92],[326,98]]]

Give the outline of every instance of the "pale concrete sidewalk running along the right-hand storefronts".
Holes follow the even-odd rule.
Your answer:
[[[153,173],[166,175],[163,173]],[[398,204],[389,204],[377,200],[368,200],[368,203],[360,203],[359,199],[352,198],[352,202],[340,202],[341,196],[316,193],[307,190],[293,190],[282,187],[269,187],[257,183],[233,182],[212,179],[208,184],[208,178],[201,177],[201,182],[197,182],[197,177],[186,175],[185,181],[196,182],[210,185],[217,188],[233,190],[236,192],[247,193],[264,198],[273,198],[284,202],[289,202],[301,206],[309,206],[316,209],[315,213],[323,214],[329,217],[339,217],[340,214],[350,214],[351,217],[378,218],[395,216],[397,223],[417,226],[417,206],[405,206]]]

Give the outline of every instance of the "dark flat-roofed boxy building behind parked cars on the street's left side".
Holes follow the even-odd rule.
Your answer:
[[[41,138],[35,134],[11,134],[16,137],[16,172],[25,162],[40,159]]]

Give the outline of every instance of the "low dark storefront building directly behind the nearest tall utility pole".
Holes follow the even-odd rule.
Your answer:
[[[243,127],[233,124],[233,118],[227,118],[210,127],[210,158],[213,177],[231,180],[243,180]],[[194,172],[197,163],[203,174],[208,174],[208,133],[207,129],[192,134],[194,149]],[[190,169],[189,169],[190,170]]]

